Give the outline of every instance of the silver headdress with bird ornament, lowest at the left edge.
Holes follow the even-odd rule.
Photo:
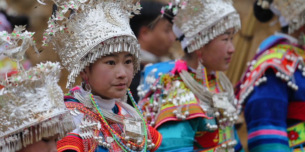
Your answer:
[[[33,33],[22,32],[24,27],[14,29],[15,33],[0,33],[0,53],[19,63],[25,50],[33,44]],[[19,37],[19,38],[16,38]],[[17,41],[23,40],[20,47]],[[72,117],[63,103],[63,91],[57,85],[56,76],[60,63],[46,62],[24,71],[22,65],[16,74],[1,81],[0,90],[0,151],[17,151],[39,141],[43,137],[66,136],[75,129]]]

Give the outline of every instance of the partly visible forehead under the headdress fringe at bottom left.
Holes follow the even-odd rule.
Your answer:
[[[57,152],[56,143],[57,143],[58,136],[59,136],[59,133],[56,134],[55,136],[51,136],[48,138],[42,138],[38,142],[36,142],[36,138],[33,138],[32,144],[27,145],[27,147],[22,147],[22,149],[18,150],[17,152],[33,152],[33,151]]]

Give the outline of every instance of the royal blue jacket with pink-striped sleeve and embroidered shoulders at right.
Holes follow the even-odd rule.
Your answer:
[[[251,152],[303,151],[304,55],[304,48],[272,35],[250,62],[237,97],[244,104]]]

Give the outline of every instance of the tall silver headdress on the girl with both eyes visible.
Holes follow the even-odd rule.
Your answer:
[[[44,45],[52,43],[62,65],[70,72],[66,88],[97,58],[114,52],[133,54],[134,74],[140,69],[140,45],[129,25],[131,12],[139,14],[140,3],[131,0],[53,1],[59,7],[48,21]],[[71,9],[72,16],[64,14]],[[59,23],[61,22],[61,23]]]

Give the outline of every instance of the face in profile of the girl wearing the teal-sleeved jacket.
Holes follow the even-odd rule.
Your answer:
[[[224,34],[205,44],[200,50],[196,50],[200,54],[207,72],[228,69],[232,54],[235,52],[233,33],[233,28],[228,29]]]

